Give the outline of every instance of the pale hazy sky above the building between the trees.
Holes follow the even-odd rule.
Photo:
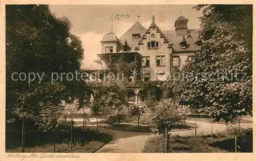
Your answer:
[[[80,37],[84,49],[83,64],[94,64],[101,53],[104,34],[111,31],[111,17],[117,14],[129,15],[122,20],[113,20],[113,32],[120,38],[138,20],[148,29],[155,16],[155,23],[161,31],[175,30],[174,22],[180,16],[188,19],[188,29],[199,29],[201,11],[192,9],[195,5],[50,5],[57,17],[66,16],[72,24],[71,32]],[[139,17],[138,19],[138,15]]]

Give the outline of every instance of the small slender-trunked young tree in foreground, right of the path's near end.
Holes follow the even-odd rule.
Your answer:
[[[151,126],[154,133],[162,135],[165,138],[165,143],[163,142],[165,152],[168,152],[170,130],[178,125],[182,119],[181,114],[177,112],[179,108],[181,106],[176,100],[164,99],[159,103],[153,114]]]

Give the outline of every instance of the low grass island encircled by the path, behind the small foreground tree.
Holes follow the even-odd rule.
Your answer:
[[[146,125],[136,125],[131,123],[121,123],[117,125],[99,125],[99,127],[106,128],[106,129],[113,129],[113,130],[120,130],[120,131],[131,131],[131,132],[152,132],[150,126]],[[178,125],[175,129],[171,131],[182,131],[182,130],[191,130],[195,128],[195,124],[186,124],[186,125]]]

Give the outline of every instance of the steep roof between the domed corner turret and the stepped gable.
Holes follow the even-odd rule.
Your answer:
[[[128,31],[126,31],[119,40],[122,44],[125,43],[125,38],[127,44],[129,45],[131,51],[135,51],[135,48],[138,47],[138,43],[141,40],[142,36],[145,34],[146,29],[140,24],[140,22],[136,22]],[[133,39],[133,34],[140,34],[141,38]]]

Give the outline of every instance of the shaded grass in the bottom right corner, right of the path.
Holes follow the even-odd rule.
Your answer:
[[[238,152],[252,152],[252,129],[249,133],[238,136]],[[161,136],[153,136],[146,141],[143,152],[161,153],[163,152]],[[214,136],[201,135],[194,136],[171,136],[169,140],[170,153],[210,153],[210,152],[234,152],[234,135]]]

